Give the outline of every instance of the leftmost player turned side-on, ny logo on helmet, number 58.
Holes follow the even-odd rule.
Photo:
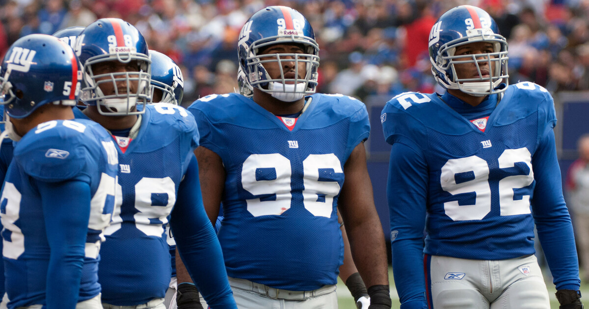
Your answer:
[[[104,128],[74,119],[80,69],[70,46],[41,34],[2,62],[1,137],[18,141],[0,197],[9,309],[102,308],[98,257],[118,161]]]

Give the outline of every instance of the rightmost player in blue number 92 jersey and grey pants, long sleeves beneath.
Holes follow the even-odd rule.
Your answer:
[[[550,308],[534,224],[560,308],[582,308],[550,93],[504,84],[507,41],[475,6],[440,16],[429,55],[445,93],[405,92],[380,117],[401,308]]]

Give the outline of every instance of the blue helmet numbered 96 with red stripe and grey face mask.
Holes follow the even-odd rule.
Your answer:
[[[305,54],[267,54],[263,56],[274,59],[260,59],[260,52],[267,46],[289,43],[304,46]],[[258,88],[269,94],[288,92],[296,94],[297,98],[315,93],[319,45],[315,42],[315,34],[309,21],[296,10],[287,6],[268,6],[257,11],[241,29],[237,49],[239,67],[249,88]],[[264,69],[266,62],[282,64],[293,58],[296,61],[295,71],[298,71],[299,65],[306,66],[304,78],[284,78],[283,66],[279,65],[281,76],[272,79]]]

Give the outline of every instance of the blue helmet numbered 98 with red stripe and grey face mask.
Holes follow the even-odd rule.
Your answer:
[[[151,60],[147,42],[135,26],[118,18],[98,19],[82,31],[76,40],[75,52],[84,65],[82,101],[85,104],[97,105],[102,115],[145,112],[144,105],[151,99]],[[136,71],[125,69],[94,74],[96,65],[112,61],[130,65],[135,61],[137,66],[133,69]],[[126,86],[121,87],[121,82]],[[114,88],[114,93],[104,94],[101,85]],[[141,106],[137,107],[138,104]]]

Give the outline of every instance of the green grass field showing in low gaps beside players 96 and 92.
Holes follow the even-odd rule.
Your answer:
[[[547,276],[544,276],[544,278],[546,277]],[[391,281],[391,298],[393,300],[392,309],[399,309],[399,297],[397,296],[395,285],[393,285],[393,272],[391,267],[389,267],[389,280]],[[554,293],[556,292],[554,290],[554,284],[548,281],[546,286],[548,287],[548,294],[550,295],[550,308],[558,309],[558,301],[554,296]],[[589,283],[581,281],[581,294],[589,295]],[[587,296],[581,298],[581,300],[584,300],[584,303],[589,304],[589,298]],[[339,278],[337,278],[337,305],[339,309],[356,309],[352,295],[348,291],[346,285],[343,284],[342,280]]]

